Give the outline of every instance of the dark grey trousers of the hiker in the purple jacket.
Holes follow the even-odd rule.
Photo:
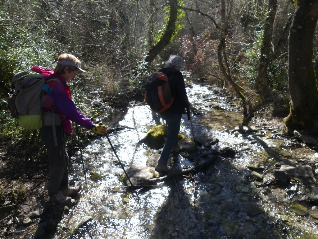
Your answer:
[[[66,189],[68,185],[68,162],[66,151],[66,133],[63,125],[55,126],[58,146],[55,146],[52,126],[43,126],[40,136],[49,156],[49,196]]]

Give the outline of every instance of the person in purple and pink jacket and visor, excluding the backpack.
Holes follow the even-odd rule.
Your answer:
[[[79,59],[72,54],[63,53],[56,63],[53,71],[43,67],[33,67],[32,70],[48,76],[48,79],[55,78],[47,81],[42,88],[43,127],[40,129],[40,136],[49,155],[50,201],[66,205],[72,201],[70,195],[80,190],[80,186],[70,186],[68,179],[66,135],[73,134],[72,122],[97,134],[107,134],[107,129],[104,125],[93,123],[79,112],[72,101],[70,87],[66,83],[75,78],[77,73],[85,72],[80,68]]]

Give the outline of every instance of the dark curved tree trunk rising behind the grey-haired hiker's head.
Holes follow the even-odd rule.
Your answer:
[[[169,21],[166,27],[166,31],[163,34],[160,41],[155,45],[149,48],[148,54],[146,56],[145,62],[148,66],[156,56],[169,44],[173,33],[176,30],[176,20],[177,20],[177,0],[169,0],[170,12],[169,12]]]

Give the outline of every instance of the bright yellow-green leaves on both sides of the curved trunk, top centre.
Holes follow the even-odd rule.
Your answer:
[[[177,0],[177,3],[180,5],[180,6],[184,6],[184,3],[182,0]],[[170,5],[166,6],[164,8],[164,10],[167,14],[167,16],[164,18],[164,22],[168,23],[169,21],[169,12],[170,12]],[[170,41],[176,39],[178,37],[178,30],[180,29],[183,29],[185,27],[185,25],[183,24],[183,18],[185,17],[185,11],[181,10],[181,9],[178,9],[178,13],[177,13],[177,21],[176,21],[176,27],[175,27],[175,32],[172,34],[172,37],[170,39]],[[157,31],[155,34],[154,34],[154,43],[157,44],[163,34],[165,33],[166,31],[166,27],[167,25],[164,25],[162,27],[162,29],[160,29],[159,31]]]

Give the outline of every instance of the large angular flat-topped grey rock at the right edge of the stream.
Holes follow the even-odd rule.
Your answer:
[[[316,179],[312,170],[312,167],[309,165],[281,165],[280,170],[284,170],[289,177],[294,177],[301,180],[304,183],[315,184]]]

